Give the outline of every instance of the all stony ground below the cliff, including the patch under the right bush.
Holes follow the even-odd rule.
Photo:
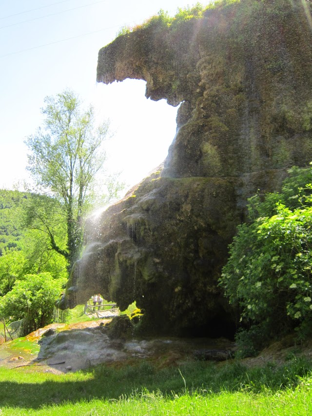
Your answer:
[[[159,367],[179,365],[186,360],[231,359],[233,341],[225,338],[147,338],[110,339],[101,325],[109,319],[71,325],[51,324],[25,338],[0,346],[0,366],[31,367],[34,371],[55,374],[83,370],[101,363],[130,363],[152,359]],[[312,358],[312,341],[296,345],[293,337],[285,337],[263,350],[257,357],[241,360],[247,366],[266,362],[281,364],[292,356],[304,354]]]

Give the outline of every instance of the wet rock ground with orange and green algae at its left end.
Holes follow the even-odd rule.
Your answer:
[[[75,372],[105,363],[127,364],[140,359],[152,359],[157,365],[170,366],[194,359],[226,360],[235,349],[234,343],[225,338],[111,338],[109,327],[98,324],[87,327],[86,324],[67,330],[48,326],[41,329],[40,334],[30,334],[28,340],[34,342],[32,352],[27,337],[20,339],[19,350],[16,343],[11,348],[8,343],[0,349],[0,365],[9,368],[31,366],[32,370],[53,373]],[[39,348],[35,345],[36,338]],[[23,348],[24,343],[28,348]],[[17,351],[22,352],[22,356],[16,355]],[[214,356],[208,357],[207,351],[214,351]],[[228,356],[222,355],[224,351],[228,351]],[[199,352],[205,352],[205,357]]]

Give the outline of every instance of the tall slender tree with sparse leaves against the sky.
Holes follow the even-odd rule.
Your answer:
[[[28,170],[40,192],[57,199],[61,209],[57,208],[58,220],[52,225],[53,214],[49,211],[52,213],[53,203],[42,199],[39,209],[33,207],[28,226],[40,228],[48,235],[50,247],[64,256],[70,270],[81,251],[82,219],[93,198],[95,179],[103,171],[103,142],[109,135],[109,122],[96,127],[93,108],[83,111],[82,102],[69,90],[46,97],[44,102],[44,128],[25,141],[31,150]],[[117,184],[115,189],[120,185],[113,183]],[[57,238],[57,222],[58,231],[61,223],[65,224],[65,245]]]

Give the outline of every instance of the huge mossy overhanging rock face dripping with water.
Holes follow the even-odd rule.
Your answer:
[[[312,160],[310,11],[245,0],[99,51],[98,82],[144,79],[146,97],[182,104],[164,165],[89,221],[63,305],[100,292],[121,309],[136,300],[146,330],[230,334],[217,279],[246,200]]]

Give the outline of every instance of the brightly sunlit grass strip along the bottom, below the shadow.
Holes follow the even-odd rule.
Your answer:
[[[39,411],[27,409],[3,409],[3,415],[176,415],[176,416],[290,416],[311,415],[312,405],[309,390],[288,391],[281,395],[260,395],[244,393],[221,393],[206,396],[202,394],[164,397],[159,392],[143,392],[140,395],[123,397],[116,401],[81,400],[74,405],[43,406]]]

